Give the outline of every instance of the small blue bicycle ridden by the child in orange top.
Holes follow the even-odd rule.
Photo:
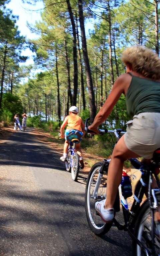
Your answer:
[[[61,138],[60,138],[61,139]],[[79,173],[79,155],[75,152],[75,144],[79,143],[79,140],[74,138],[68,146],[67,159],[64,162],[67,172],[71,172],[72,180],[77,181]]]

